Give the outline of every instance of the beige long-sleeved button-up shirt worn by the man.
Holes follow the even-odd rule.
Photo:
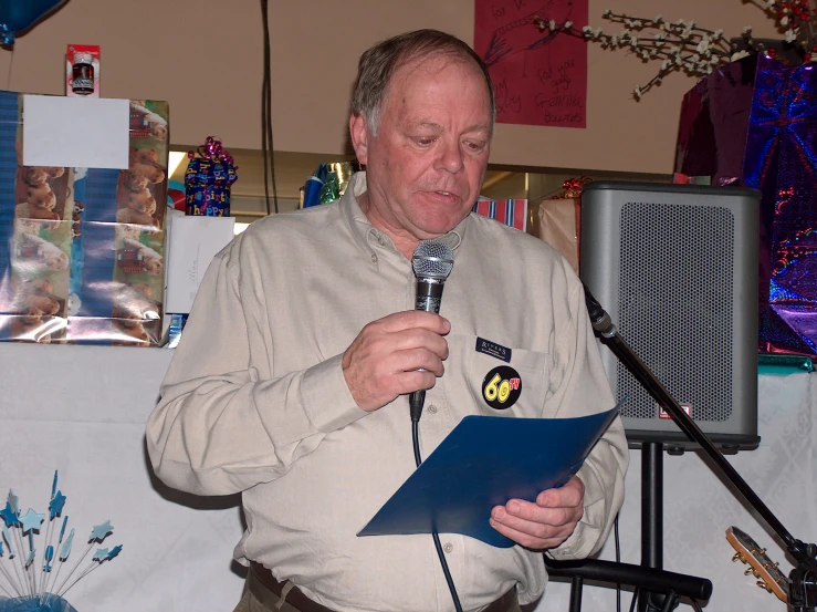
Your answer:
[[[171,487],[241,491],[240,561],[263,563],[334,610],[450,611],[430,536],[356,537],[415,470],[407,397],[364,412],[341,367],[366,323],[415,303],[411,264],[362,212],[365,190],[358,173],[341,201],[259,220],[217,256],[147,424],[148,450]],[[442,239],[454,250],[440,311],[451,321],[450,354],[427,393],[423,457],[469,414],[612,407],[582,284],[561,256],[476,215]],[[476,352],[476,338],[511,349],[510,364]],[[510,409],[482,397],[497,365],[522,378]],[[617,419],[578,473],[585,515],[554,557],[600,548],[622,501],[627,457]],[[464,610],[514,584],[522,603],[542,594],[540,553],[440,538]]]

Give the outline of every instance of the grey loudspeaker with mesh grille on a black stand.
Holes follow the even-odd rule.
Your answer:
[[[620,336],[722,449],[756,448],[758,191],[590,183],[580,276]],[[693,448],[612,352],[601,355],[631,447]]]

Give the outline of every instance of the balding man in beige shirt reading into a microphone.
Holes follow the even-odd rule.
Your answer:
[[[423,456],[468,414],[612,406],[569,266],[470,214],[493,116],[488,71],[460,40],[423,30],[376,45],[349,120],[366,173],[338,203],[256,221],[208,270],[147,438],[168,485],[242,492],[235,558],[251,568],[237,610],[453,609],[431,537],[355,536],[415,469],[412,391],[428,390]],[[455,253],[441,315],[412,310],[411,255],[432,238]],[[475,350],[478,338],[510,362]],[[502,412],[482,394],[500,365],[522,381]],[[546,581],[538,551],[598,550],[626,466],[617,421],[564,487],[491,510],[520,546],[441,535],[463,610],[533,609]]]

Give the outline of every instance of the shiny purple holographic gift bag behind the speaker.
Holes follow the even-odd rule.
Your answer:
[[[817,355],[817,64],[755,55],[685,96],[675,172],[760,189],[758,349]]]

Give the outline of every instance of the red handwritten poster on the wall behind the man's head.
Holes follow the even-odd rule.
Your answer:
[[[535,18],[580,30],[587,0],[474,0],[474,50],[491,71],[496,121],[585,127],[587,42],[542,31]]]

